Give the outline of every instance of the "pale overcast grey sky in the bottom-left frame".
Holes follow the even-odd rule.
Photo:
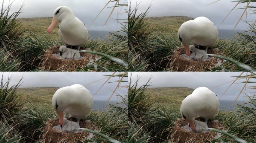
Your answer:
[[[3,74],[4,82],[7,81],[8,77],[11,77],[9,87],[18,84],[19,80],[23,77],[21,80],[22,84],[19,88],[62,88],[64,86],[80,84],[88,89],[93,96],[97,90],[100,89],[101,85],[103,85],[103,83],[107,80],[108,77],[104,75],[112,75],[113,72],[0,72],[0,74]],[[108,82],[115,82],[116,80],[119,80],[119,77],[112,77]],[[124,77],[123,80],[127,80],[127,77]],[[94,96],[94,100],[108,100],[117,85],[118,83],[116,82],[106,83]],[[127,85],[127,82],[121,82],[121,85],[119,86],[119,89],[116,90],[116,93],[119,93],[119,95],[127,95],[128,88],[121,87]],[[117,101],[120,99],[118,96],[116,96],[116,93],[112,96],[112,101]]]

